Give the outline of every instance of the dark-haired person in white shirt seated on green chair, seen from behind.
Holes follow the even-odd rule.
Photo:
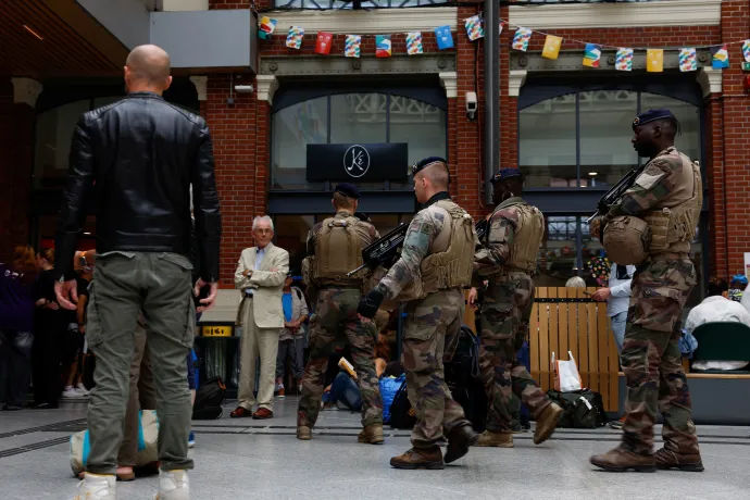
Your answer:
[[[737,322],[750,326],[750,313],[741,304],[722,297],[727,288],[726,279],[712,278],[705,299],[692,308],[688,314],[685,329],[692,333],[704,323],[716,322]],[[746,361],[696,361],[692,363],[695,370],[740,370],[747,365]]]

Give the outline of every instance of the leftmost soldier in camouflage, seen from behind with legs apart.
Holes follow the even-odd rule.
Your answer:
[[[354,186],[339,184],[333,199],[336,216],[317,223],[308,237],[308,254],[315,258],[312,265],[314,283],[311,285],[317,289],[317,300],[315,314],[310,321],[310,361],[304,368],[297,413],[297,438],[301,440],[312,439],[312,428],[321,410],[329,347],[342,329],[349,341],[362,397],[364,429],[358,440],[373,445],[384,442],[383,399],[374,360],[377,332],[372,320],[357,314],[362,297],[362,278],[348,278],[346,275],[358,266],[358,262],[361,263],[361,249],[379,238],[375,226],[352,215],[359,198]],[[326,254],[316,254],[316,249],[320,250],[326,241],[328,246],[323,250]]]

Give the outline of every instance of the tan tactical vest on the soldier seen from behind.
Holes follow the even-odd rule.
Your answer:
[[[360,220],[329,217],[323,221],[315,235],[315,259],[311,274],[315,280],[359,284],[347,273],[362,265],[362,240],[357,230]]]

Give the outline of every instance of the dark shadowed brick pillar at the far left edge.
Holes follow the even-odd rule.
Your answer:
[[[0,262],[29,242],[29,196],[36,96],[14,102],[10,78],[0,78]]]

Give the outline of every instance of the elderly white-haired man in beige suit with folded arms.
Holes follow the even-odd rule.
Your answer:
[[[278,336],[284,327],[282,293],[289,272],[289,253],[275,247],[274,223],[267,215],[252,222],[255,247],[246,248],[237,263],[235,287],[242,290],[237,323],[242,325],[240,375],[237,399],[239,405],[230,413],[233,418],[251,416],[255,420],[274,416],[274,375],[278,354]],[[255,387],[255,360],[261,358],[261,377]]]

